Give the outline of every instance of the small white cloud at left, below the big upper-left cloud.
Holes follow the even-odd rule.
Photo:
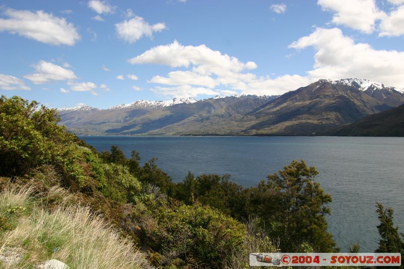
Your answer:
[[[34,84],[45,84],[54,80],[71,80],[77,78],[73,71],[43,60],[39,61],[39,63],[33,67],[37,73],[25,75],[24,78],[31,80]]]

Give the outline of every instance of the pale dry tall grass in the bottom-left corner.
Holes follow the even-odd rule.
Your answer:
[[[28,203],[29,191],[6,190],[0,194],[0,209]],[[144,256],[88,207],[66,205],[49,212],[35,204],[13,230],[1,235],[0,251],[5,247],[24,252],[24,260],[14,265],[18,268],[37,266],[47,259],[80,269],[148,267]]]

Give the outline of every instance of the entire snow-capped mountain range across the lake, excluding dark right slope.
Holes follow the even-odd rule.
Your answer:
[[[316,135],[402,103],[402,89],[365,79],[322,79],[281,96],[137,100],[59,114],[60,124],[78,135]]]

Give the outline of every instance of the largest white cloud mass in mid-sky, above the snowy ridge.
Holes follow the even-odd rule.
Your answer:
[[[131,64],[161,64],[190,70],[172,71],[154,76],[148,82],[162,84],[152,89],[157,94],[185,97],[197,95],[229,95],[235,93],[272,95],[307,85],[311,80],[298,75],[276,78],[257,77],[248,73],[256,69],[254,62],[243,63],[206,45],[172,44],[151,48],[128,60]]]

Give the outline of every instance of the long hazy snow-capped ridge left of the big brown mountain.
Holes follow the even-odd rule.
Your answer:
[[[139,100],[107,110],[63,109],[59,113],[61,124],[79,135],[220,134],[225,131],[223,125],[240,120],[249,111],[276,97],[237,95],[199,101],[194,98]],[[235,134],[231,129],[230,126],[226,130]]]

